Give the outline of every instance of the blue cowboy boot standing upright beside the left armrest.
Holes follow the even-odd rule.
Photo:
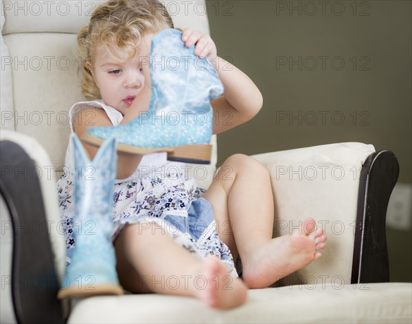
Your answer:
[[[60,280],[60,299],[92,295],[121,295],[116,272],[113,231],[113,191],[117,169],[115,138],[100,147],[93,162],[82,143],[71,136],[74,151],[73,238],[71,263]]]

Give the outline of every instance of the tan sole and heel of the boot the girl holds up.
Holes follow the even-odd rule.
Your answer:
[[[80,140],[95,147],[100,147],[100,145],[104,142],[102,138],[90,136],[89,134],[83,134],[80,136]],[[163,147],[161,149],[146,149],[144,147],[133,147],[131,145],[117,144],[116,148],[117,151],[130,154],[166,152],[168,153],[168,160],[170,161],[210,164],[212,146],[209,144],[196,144],[182,145],[178,147]]]

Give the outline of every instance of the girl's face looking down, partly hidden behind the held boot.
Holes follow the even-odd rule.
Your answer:
[[[152,35],[141,38],[136,55],[126,61],[126,51],[113,47],[112,52],[122,60],[118,62],[107,49],[98,49],[91,73],[106,105],[110,105],[123,115],[146,82],[150,82],[149,55]],[[125,62],[123,62],[125,61]]]

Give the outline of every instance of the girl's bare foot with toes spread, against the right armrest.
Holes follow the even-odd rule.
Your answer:
[[[314,231],[315,221],[306,219],[292,235],[279,236],[264,243],[249,258],[242,256],[243,280],[249,288],[264,288],[321,258],[326,235]]]

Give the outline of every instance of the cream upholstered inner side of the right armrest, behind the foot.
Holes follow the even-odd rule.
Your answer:
[[[346,142],[253,155],[271,173],[273,236],[313,217],[328,235],[323,257],[282,279],[290,284],[350,284],[362,166],[373,145]]]

